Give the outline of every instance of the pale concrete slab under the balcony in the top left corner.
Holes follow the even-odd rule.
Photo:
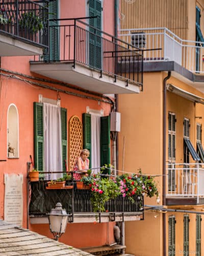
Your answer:
[[[42,55],[43,49],[12,35],[0,34],[0,56]]]

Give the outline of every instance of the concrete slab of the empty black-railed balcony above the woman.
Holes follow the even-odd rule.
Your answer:
[[[139,86],[134,83],[118,77],[115,79],[109,74],[101,76],[99,71],[79,63],[73,68],[73,62],[30,62],[30,70],[100,94],[140,93]]]

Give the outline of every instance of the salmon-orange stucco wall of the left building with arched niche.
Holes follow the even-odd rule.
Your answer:
[[[85,17],[87,15],[86,1],[61,0],[59,2],[61,18]],[[113,35],[114,2],[104,0],[103,3],[103,29],[106,30],[107,33],[111,33]],[[2,57],[1,68],[33,77],[40,77],[39,75],[30,72],[30,60],[34,60],[34,57]],[[20,75],[16,76],[21,77]],[[31,78],[26,79],[32,80]],[[45,98],[51,99],[57,99],[57,97],[60,96],[61,106],[67,109],[67,127],[68,121],[73,115],[77,115],[82,120],[82,113],[86,112],[87,106],[89,106],[90,109],[104,110],[104,115],[109,115],[111,111],[110,103],[99,102],[97,100],[97,98],[101,99],[100,96],[96,96],[91,93],[84,93],[60,84],[54,84],[52,83],[52,79],[46,79],[50,80],[50,82],[38,82],[50,87],[74,92],[79,95],[74,96],[61,92],[58,95],[57,91],[44,89],[36,85],[31,85],[26,81],[20,81],[6,76],[1,76],[0,81],[0,159],[6,160],[6,162],[0,162],[0,186],[2,187],[2,193],[0,195],[0,218],[4,219],[4,174],[22,174],[23,227],[25,228],[27,227],[27,162],[30,162],[30,155],[34,158],[33,102],[38,102],[39,94],[42,94]],[[77,84],[75,84],[75,86],[77,86]],[[83,98],[80,97],[80,95],[94,97],[95,99]],[[8,106],[11,103],[15,104],[19,115],[19,158],[17,159],[9,159],[7,157],[7,111]],[[111,244],[114,242],[113,225],[114,223],[68,224],[67,231],[60,241],[75,247],[99,246],[106,243]],[[52,237],[48,225],[46,224],[30,225],[30,228],[33,231]]]

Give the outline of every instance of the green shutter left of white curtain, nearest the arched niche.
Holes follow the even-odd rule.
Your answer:
[[[35,168],[43,172],[44,156],[44,138],[43,138],[43,104],[34,102],[34,151]]]

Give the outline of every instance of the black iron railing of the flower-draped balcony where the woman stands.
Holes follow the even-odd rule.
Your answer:
[[[29,198],[29,215],[45,216],[60,202],[67,213],[74,219],[74,214],[93,214],[90,201],[90,190],[77,189],[46,189],[47,181],[31,182]],[[143,216],[143,197],[134,197],[134,203],[126,197],[118,196],[106,204],[107,214],[140,214]],[[95,213],[94,213],[95,214]]]

